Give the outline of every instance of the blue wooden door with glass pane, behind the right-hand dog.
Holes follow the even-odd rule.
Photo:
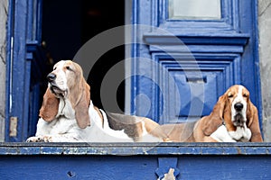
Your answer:
[[[261,109],[257,0],[134,0],[133,24],[131,112],[193,121],[234,84]]]

